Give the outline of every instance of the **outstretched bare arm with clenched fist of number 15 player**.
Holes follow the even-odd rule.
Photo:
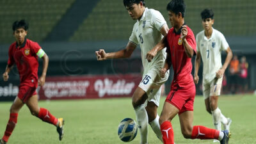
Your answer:
[[[128,42],[125,49],[116,52],[106,53],[104,49],[100,49],[99,51],[95,51],[98,61],[113,59],[113,58],[129,58],[132,55],[132,52],[136,49],[137,45],[132,42]]]

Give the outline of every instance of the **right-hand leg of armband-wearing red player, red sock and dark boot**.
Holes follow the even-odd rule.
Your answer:
[[[56,118],[55,116],[51,115],[50,111],[48,111],[47,109],[39,108],[38,95],[33,95],[32,97],[30,97],[27,100],[26,105],[28,106],[32,115],[40,118],[44,122],[55,125],[57,127],[59,139],[61,140],[63,138],[63,124],[64,124],[63,118]]]

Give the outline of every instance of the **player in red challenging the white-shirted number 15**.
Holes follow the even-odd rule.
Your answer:
[[[193,31],[184,22],[186,5],[183,0],[172,0],[167,5],[172,28],[152,51],[159,51],[167,46],[167,58],[161,68],[161,76],[173,66],[174,76],[171,91],[164,102],[159,118],[164,144],[173,144],[174,134],[171,124],[174,116],[179,114],[180,128],[184,138],[217,139],[221,144],[228,143],[230,132],[218,131],[207,127],[193,126],[193,104],[195,83],[191,75],[191,58],[196,54],[196,40]],[[152,52],[150,51],[150,52]],[[152,58],[147,58],[152,60]]]

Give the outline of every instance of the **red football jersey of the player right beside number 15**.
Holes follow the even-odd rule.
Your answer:
[[[170,54],[172,60],[172,66],[174,71],[172,86],[179,84],[180,87],[186,87],[194,83],[192,71],[191,58],[189,58],[185,52],[184,45],[180,38],[181,29],[175,31],[171,28],[167,34],[167,49],[166,51]],[[188,44],[193,48],[194,55],[196,54],[196,40],[193,31],[187,26],[188,35],[186,40]]]

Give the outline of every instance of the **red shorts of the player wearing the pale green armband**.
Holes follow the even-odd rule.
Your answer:
[[[36,95],[35,87],[30,87],[26,85],[19,86],[18,97],[20,98],[20,100],[22,100],[23,103],[26,103],[27,100],[33,95]]]

